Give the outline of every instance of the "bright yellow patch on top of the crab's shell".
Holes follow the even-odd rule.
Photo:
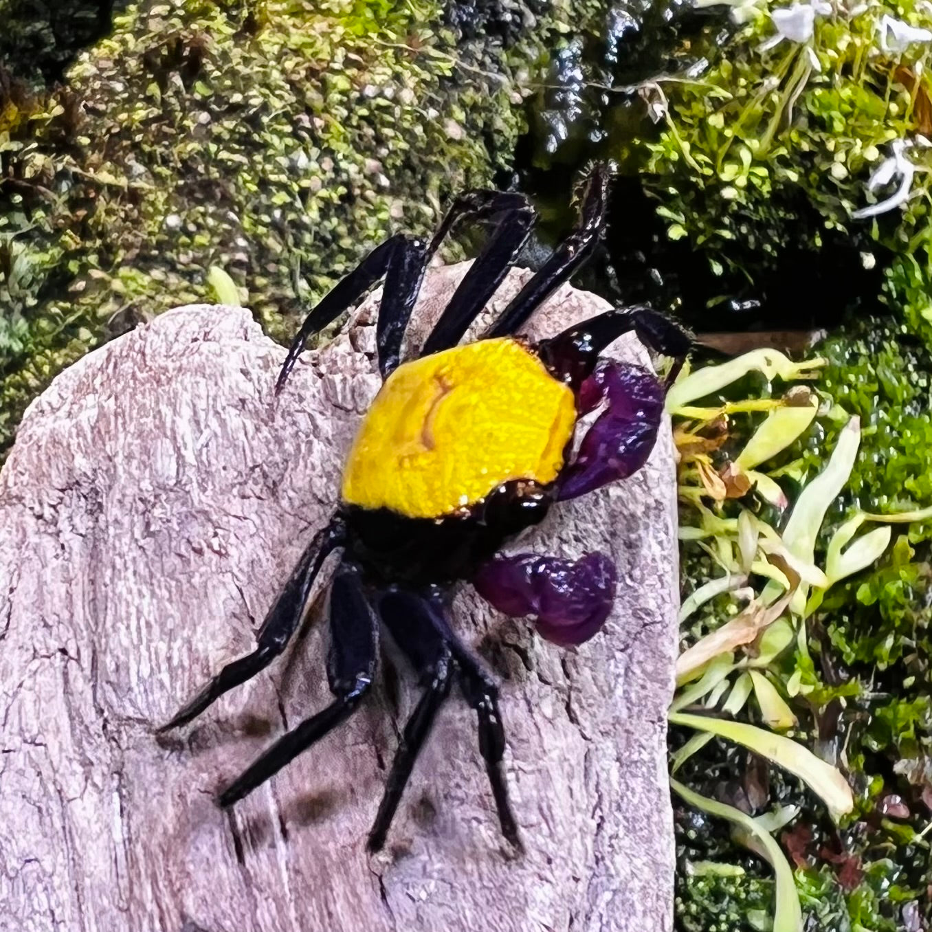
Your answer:
[[[342,499],[433,518],[510,479],[553,482],[576,421],[573,393],[511,337],[400,365],[360,425]]]

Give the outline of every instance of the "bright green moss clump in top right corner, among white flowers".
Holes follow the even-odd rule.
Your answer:
[[[753,281],[788,249],[817,253],[839,233],[870,238],[865,263],[898,257],[884,300],[932,344],[929,150],[908,150],[920,171],[904,207],[852,217],[896,188],[898,179],[875,195],[866,186],[891,144],[932,132],[927,44],[903,53],[878,47],[884,16],[915,24],[924,14],[912,3],[857,10],[816,16],[808,45],[783,41],[763,50],[774,34],[767,8],[736,9],[743,25],[733,38],[697,49],[705,70],[663,85],[666,125],[644,145],[644,183],[668,237],[688,238],[717,274]]]

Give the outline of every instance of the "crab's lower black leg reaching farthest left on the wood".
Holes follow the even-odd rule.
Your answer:
[[[167,732],[196,718],[225,692],[264,670],[285,649],[301,620],[308,603],[310,588],[321,570],[323,561],[343,543],[343,540],[344,527],[337,519],[331,520],[314,535],[314,539],[310,541],[284,584],[281,594],[268,610],[266,619],[256,635],[255,650],[227,664],[170,722],[163,725],[159,732]]]

